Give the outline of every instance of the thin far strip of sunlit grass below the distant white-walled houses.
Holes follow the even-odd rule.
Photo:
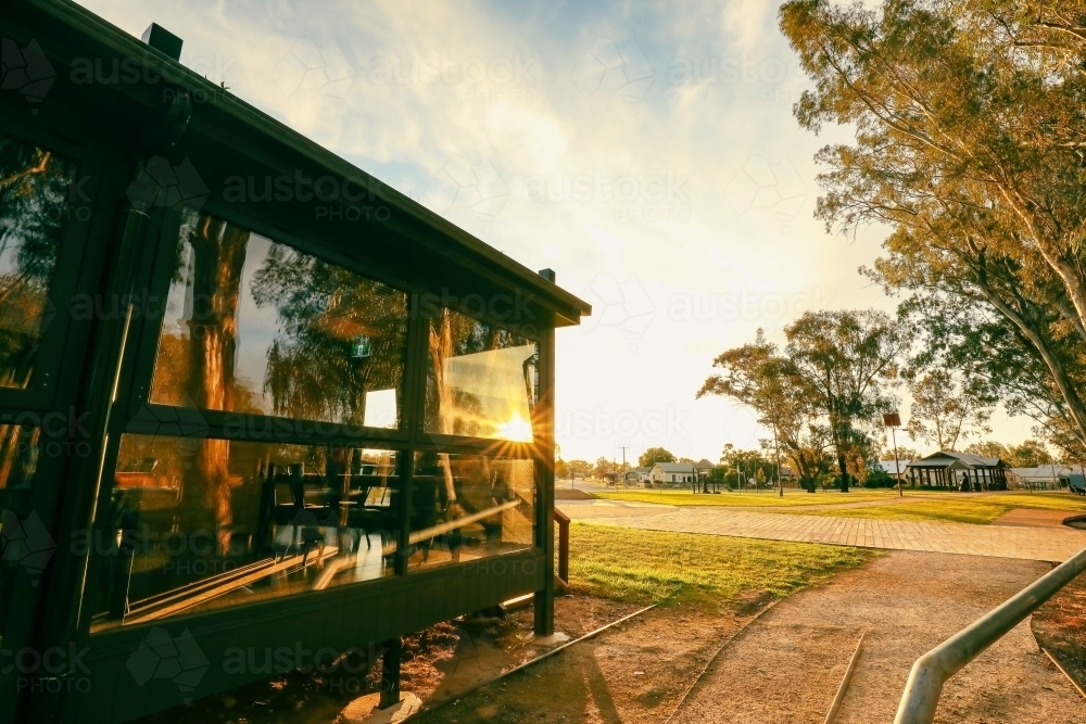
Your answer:
[[[806,491],[785,490],[784,497],[776,491],[734,491],[722,492],[720,495],[695,495],[689,491],[655,490],[655,488],[630,488],[620,491],[607,491],[593,493],[597,498],[604,500],[634,500],[637,503],[659,503],[672,506],[741,506],[759,508],[778,508],[781,506],[810,506],[810,505],[835,505],[839,503],[869,503],[872,500],[886,500],[896,498],[897,488],[894,490],[863,490],[853,488],[849,493],[838,493],[837,491],[815,494]],[[906,496],[911,495],[939,495],[931,491],[905,491]]]

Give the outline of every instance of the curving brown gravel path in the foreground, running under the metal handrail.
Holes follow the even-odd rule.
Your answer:
[[[837,724],[894,721],[912,662],[1050,570],[1034,561],[895,551],[792,596],[725,647],[674,724],[818,724],[862,631]],[[1025,621],[946,687],[936,722],[1086,720]]]

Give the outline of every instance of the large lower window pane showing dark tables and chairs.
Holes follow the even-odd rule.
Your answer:
[[[91,630],[391,575],[399,480],[390,450],[124,435]]]

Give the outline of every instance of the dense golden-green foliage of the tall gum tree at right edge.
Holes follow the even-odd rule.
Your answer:
[[[816,132],[828,123],[856,129],[855,144],[818,155],[829,170],[817,215],[845,232],[888,224],[888,254],[867,274],[907,290],[917,309],[957,309],[956,323],[976,319],[959,328],[970,342],[1024,353],[1022,388],[1011,379],[1013,360],[969,371],[986,373],[993,390],[1055,393],[1032,409],[1021,397],[1011,407],[1023,403],[1053,442],[1079,448],[1084,17],[1081,0],[781,8],[781,27],[815,84],[796,118]]]

